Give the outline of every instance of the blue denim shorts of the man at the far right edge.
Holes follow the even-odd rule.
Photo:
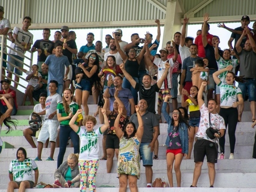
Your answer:
[[[238,87],[241,89],[243,99],[248,92],[249,101],[256,101],[256,79],[244,79],[244,82],[239,82]]]

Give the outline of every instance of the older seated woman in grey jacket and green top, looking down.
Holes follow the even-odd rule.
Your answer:
[[[71,153],[67,157],[67,161],[64,161],[58,169],[54,170],[53,188],[78,188],[80,186],[78,157],[78,153]]]

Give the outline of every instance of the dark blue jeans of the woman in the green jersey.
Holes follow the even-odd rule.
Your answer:
[[[73,129],[68,125],[61,125],[60,127],[60,151],[58,154],[57,168],[59,168],[63,162],[64,154],[67,148],[68,137],[70,137],[71,141],[73,142],[74,154],[79,153],[79,135],[76,134],[76,132],[73,131]]]

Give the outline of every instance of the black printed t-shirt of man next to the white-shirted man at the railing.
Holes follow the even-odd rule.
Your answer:
[[[47,50],[50,54],[52,54],[52,49],[54,48],[54,43],[52,41],[45,41],[44,39],[36,40],[33,47],[36,49],[41,49],[41,55],[38,55],[38,62],[44,62],[46,60],[46,55],[44,50]]]

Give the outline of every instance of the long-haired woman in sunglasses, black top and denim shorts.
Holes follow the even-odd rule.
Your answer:
[[[89,113],[89,108],[87,101],[92,89],[93,83],[95,87],[99,89],[101,87],[100,79],[98,77],[99,73],[99,56],[97,53],[92,53],[88,57],[88,63],[78,64],[76,67],[76,78],[79,83],[79,87],[76,86],[76,102],[79,106],[81,104],[84,107],[84,115],[87,116]]]

